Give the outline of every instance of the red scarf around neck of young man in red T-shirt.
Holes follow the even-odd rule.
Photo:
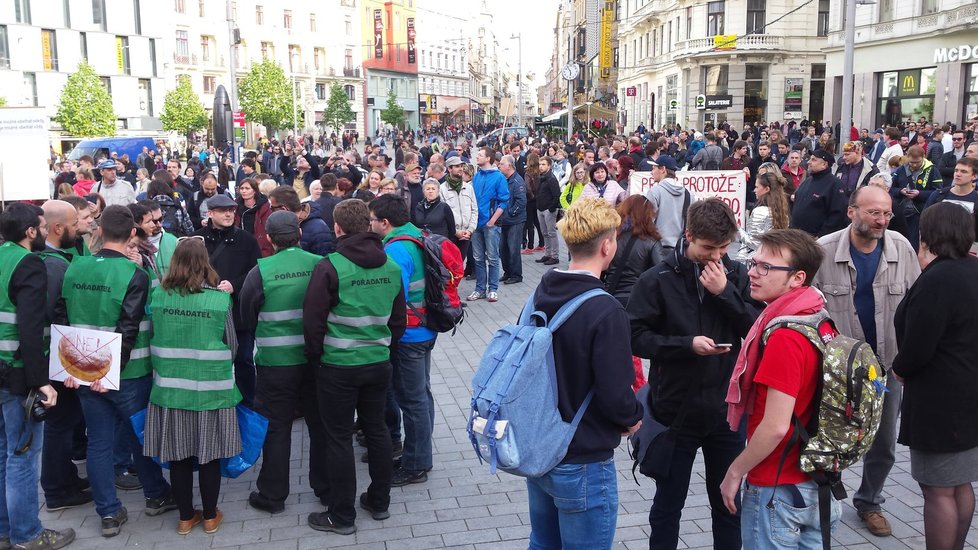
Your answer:
[[[727,423],[731,430],[736,432],[740,428],[744,411],[748,411],[748,407],[754,403],[754,374],[761,362],[761,336],[764,328],[778,317],[811,315],[824,307],[825,299],[822,294],[810,286],[803,286],[782,294],[757,317],[747,333],[744,346],[740,348],[737,365],[727,387]]]

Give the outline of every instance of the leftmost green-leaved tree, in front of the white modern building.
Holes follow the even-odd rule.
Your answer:
[[[82,61],[68,77],[54,120],[72,136],[114,136],[112,97],[95,69]]]

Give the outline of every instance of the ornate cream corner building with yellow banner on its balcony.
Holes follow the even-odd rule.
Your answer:
[[[827,118],[829,4],[621,0],[622,123],[629,130],[640,123],[700,129]]]

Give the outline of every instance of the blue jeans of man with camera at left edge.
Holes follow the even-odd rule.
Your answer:
[[[40,470],[44,425],[28,422],[24,415],[26,396],[0,389],[0,537],[10,537],[12,544],[33,540],[41,534],[37,517],[37,475]],[[26,423],[26,431],[25,431]],[[31,448],[22,455],[14,451],[33,434]]]

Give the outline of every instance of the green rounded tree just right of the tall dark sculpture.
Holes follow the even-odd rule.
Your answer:
[[[269,133],[292,125],[292,82],[278,63],[266,59],[251,66],[238,86],[238,103],[248,120]],[[299,109],[299,125],[302,109]]]

